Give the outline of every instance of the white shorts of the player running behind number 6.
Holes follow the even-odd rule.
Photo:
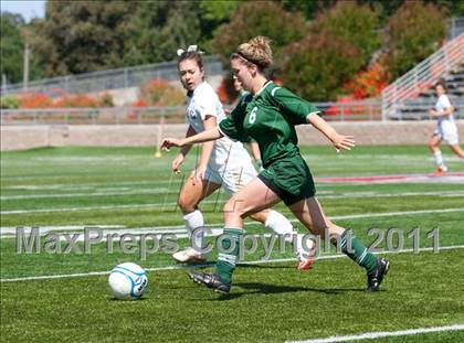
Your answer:
[[[219,170],[213,170],[208,165],[204,179],[220,184],[224,191],[234,194],[256,176],[257,172],[249,158],[241,164],[229,163]]]

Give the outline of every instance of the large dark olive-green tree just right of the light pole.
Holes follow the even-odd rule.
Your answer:
[[[45,20],[33,24],[33,50],[46,75],[122,66],[131,1],[48,1]]]

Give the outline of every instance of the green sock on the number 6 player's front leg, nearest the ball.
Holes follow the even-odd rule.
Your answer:
[[[224,283],[232,282],[232,274],[239,259],[241,228],[224,228],[224,238],[221,242],[222,249],[219,251],[215,274]]]

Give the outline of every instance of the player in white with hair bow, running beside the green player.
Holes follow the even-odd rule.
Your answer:
[[[222,104],[213,88],[204,81],[204,67],[200,52],[194,45],[188,51],[178,51],[178,68],[182,86],[187,89],[186,116],[189,122],[186,137],[193,136],[210,128],[215,128],[225,118]],[[172,171],[179,173],[192,146],[180,149],[172,161]],[[196,170],[186,180],[178,197],[178,205],[183,213],[183,222],[191,238],[191,247],[172,255],[178,262],[201,262],[205,260],[203,214],[199,203],[211,193],[223,187],[234,194],[256,176],[251,158],[241,142],[234,142],[223,137],[217,141],[202,144],[200,160]],[[307,270],[312,265],[314,251],[304,249],[302,238],[293,231],[292,224],[281,213],[263,210],[251,216],[278,235],[285,235],[286,240],[295,242],[299,258],[298,269]],[[307,247],[312,242],[307,242]],[[306,250],[306,251],[305,251]],[[309,254],[312,253],[312,254]]]

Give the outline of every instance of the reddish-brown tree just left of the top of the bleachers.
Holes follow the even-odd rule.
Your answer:
[[[390,18],[387,35],[387,64],[394,79],[440,47],[446,18],[433,4],[407,1]]]

